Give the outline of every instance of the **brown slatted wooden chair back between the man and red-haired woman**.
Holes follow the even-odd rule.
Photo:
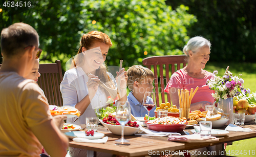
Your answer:
[[[63,77],[60,61],[56,60],[55,63],[40,64],[39,73],[41,76],[38,78],[38,85],[45,92],[49,104],[62,106],[63,100],[59,85]]]

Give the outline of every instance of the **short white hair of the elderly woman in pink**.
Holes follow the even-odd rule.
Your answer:
[[[198,49],[205,47],[205,46],[208,46],[210,49],[210,41],[205,39],[204,37],[196,36],[196,37],[189,39],[189,41],[183,48],[183,52],[189,58],[188,51],[191,50],[193,53],[197,53]]]

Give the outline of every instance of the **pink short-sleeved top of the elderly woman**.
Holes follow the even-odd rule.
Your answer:
[[[181,69],[175,72],[172,77],[170,77],[170,80],[166,85],[164,92],[175,93],[175,91],[169,91],[170,87],[187,89],[190,92],[191,88],[194,88],[195,91],[196,87],[198,86],[198,91],[195,94],[194,98],[191,100],[191,103],[196,103],[200,101],[208,101],[213,103],[215,100],[214,97],[211,96],[211,93],[214,93],[214,91],[209,89],[208,85],[206,85],[206,81],[208,79],[214,79],[215,75],[207,71],[205,72],[206,76],[203,79],[198,79],[190,77],[183,69]]]

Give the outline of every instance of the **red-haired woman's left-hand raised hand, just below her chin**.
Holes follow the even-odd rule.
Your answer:
[[[100,79],[98,79],[98,76],[95,76],[93,74],[88,75],[87,87],[88,87],[88,96],[90,100],[92,100],[92,98],[95,96],[98,90],[98,86],[99,86],[98,81],[100,81]]]

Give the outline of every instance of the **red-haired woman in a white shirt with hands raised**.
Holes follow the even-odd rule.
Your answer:
[[[86,124],[86,117],[96,117],[94,108],[105,106],[110,94],[101,86],[102,81],[110,88],[117,89],[117,79],[108,72],[104,61],[112,46],[108,35],[98,31],[91,31],[81,37],[80,48],[77,55],[72,59],[71,69],[68,70],[60,84],[63,98],[63,106],[76,107],[81,116],[69,118],[68,123]],[[128,76],[122,68],[116,72],[120,74],[120,99],[126,101],[126,82]],[[69,148],[71,156],[86,156],[87,151],[77,148]],[[100,153],[97,153],[99,156]],[[106,156],[104,154],[103,156]]]

